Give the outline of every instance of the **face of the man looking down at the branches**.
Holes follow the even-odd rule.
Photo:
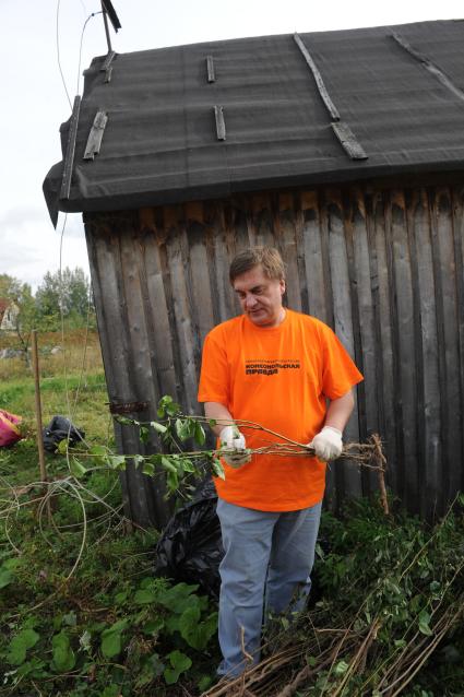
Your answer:
[[[234,291],[245,315],[257,327],[277,327],[285,317],[282,296],[285,281],[267,279],[261,264],[240,274],[234,281]]]

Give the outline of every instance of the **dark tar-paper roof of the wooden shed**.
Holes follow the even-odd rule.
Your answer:
[[[95,58],[68,158],[69,194],[63,163],[44,182],[51,216],[463,169],[464,21],[300,39],[320,90],[290,34],[115,55],[106,72],[106,57]],[[352,158],[336,137],[324,90],[366,160]],[[217,137],[215,106],[223,107],[226,140]],[[108,119],[99,153],[83,160],[97,111]],[[69,130],[70,121],[61,127],[64,160]]]

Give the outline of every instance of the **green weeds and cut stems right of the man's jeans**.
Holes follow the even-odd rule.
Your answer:
[[[385,517],[367,499],[352,501],[338,517],[324,512],[312,575],[319,600],[300,636],[313,637],[314,626],[346,635],[337,660],[330,670],[318,670],[301,694],[319,697],[337,688],[341,695],[359,697],[385,694],[382,680],[395,680],[398,686],[405,664],[421,668],[406,697],[460,694],[464,665],[461,660],[452,665],[449,658],[464,651],[463,540],[464,516],[457,505],[433,528],[403,512]],[[349,636],[367,637],[372,627],[362,669],[353,670],[360,640],[350,645]],[[445,649],[423,659],[443,627]],[[308,643],[310,665],[318,664],[324,636]]]

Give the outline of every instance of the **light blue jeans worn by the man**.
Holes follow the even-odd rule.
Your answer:
[[[235,677],[260,660],[263,612],[305,607],[321,504],[267,512],[217,501],[224,558],[219,566],[219,675]]]

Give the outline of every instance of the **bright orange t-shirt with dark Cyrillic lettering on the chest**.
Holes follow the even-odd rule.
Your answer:
[[[309,315],[286,310],[278,327],[255,327],[245,315],[215,327],[203,346],[199,402],[224,404],[235,420],[251,421],[300,444],[324,424],[326,398],[362,380],[333,331]],[[240,426],[248,448],[282,439]],[[224,460],[224,500],[267,511],[299,510],[322,500],[325,464],[317,458],[253,454],[239,469]]]

